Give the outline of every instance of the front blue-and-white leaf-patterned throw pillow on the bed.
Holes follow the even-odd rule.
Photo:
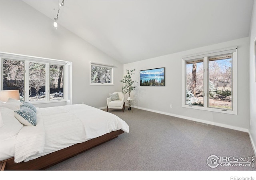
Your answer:
[[[26,106],[14,111],[14,116],[26,126],[36,126],[36,112]]]

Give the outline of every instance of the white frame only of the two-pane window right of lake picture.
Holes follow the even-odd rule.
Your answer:
[[[233,89],[232,89],[232,110],[226,109],[217,109],[217,108],[209,108],[208,106],[208,99],[206,93],[208,92],[208,56],[216,56],[221,54],[229,54],[233,53]],[[204,106],[196,106],[196,105],[188,105],[185,104],[186,102],[186,61],[197,59],[197,58],[204,58]],[[220,112],[225,114],[234,114],[237,115],[237,46],[224,48],[221,50],[214,50],[209,52],[202,52],[198,54],[188,55],[182,57],[182,107],[190,108],[190,109],[197,109],[197,110],[206,110],[211,112]]]

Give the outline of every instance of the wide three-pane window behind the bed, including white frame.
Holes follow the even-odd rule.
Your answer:
[[[71,62],[1,52],[0,58],[2,90],[19,90],[22,100],[34,104],[72,103]]]

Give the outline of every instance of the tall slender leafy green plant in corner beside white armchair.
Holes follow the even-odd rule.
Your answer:
[[[132,80],[132,77],[131,75],[134,74],[133,72],[135,71],[135,69],[133,70],[126,70],[126,75],[124,76],[124,78],[122,80],[120,80],[122,83],[123,83],[123,86],[122,86],[122,93],[123,94],[126,94],[128,93],[129,94],[129,98],[130,99],[130,94],[132,92],[132,90],[135,89],[135,85],[134,83],[137,82],[137,81],[134,81]]]

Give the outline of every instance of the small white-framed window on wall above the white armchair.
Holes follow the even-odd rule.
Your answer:
[[[90,85],[114,85],[114,66],[90,62]]]

